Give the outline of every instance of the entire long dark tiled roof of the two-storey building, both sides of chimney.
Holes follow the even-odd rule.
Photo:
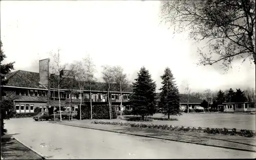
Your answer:
[[[51,75],[52,82],[50,83],[51,88],[57,88],[57,82],[54,82],[54,79],[56,79],[56,75]],[[29,72],[29,71],[22,71],[18,70],[12,73],[9,73],[6,75],[6,80],[8,80],[6,86],[16,86],[16,87],[29,87],[29,88],[41,88],[45,89],[45,87],[41,86],[39,84],[39,73],[35,72]],[[85,82],[84,87],[82,90],[90,90],[90,85],[89,82]],[[74,78],[69,78],[69,77],[62,77],[61,78],[61,83],[60,83],[60,88],[61,89],[70,89],[71,86],[74,87],[74,90],[79,90],[78,87],[78,81],[76,81]],[[117,84],[111,84],[110,90],[112,92],[119,92],[119,89],[117,87]],[[99,91],[106,91],[108,90],[108,86],[106,83],[102,82],[95,82],[92,84],[91,90],[99,90]],[[133,92],[132,85],[129,85],[129,87],[123,89],[123,92]]]

